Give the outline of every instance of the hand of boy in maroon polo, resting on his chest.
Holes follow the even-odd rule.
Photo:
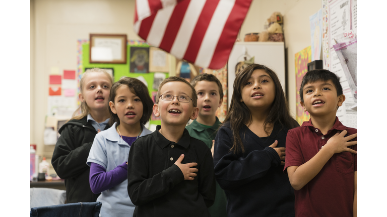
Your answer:
[[[334,154],[341,152],[350,152],[356,154],[356,151],[348,148],[348,146],[356,145],[357,141],[348,142],[357,137],[357,133],[344,137],[347,134],[346,130],[343,130],[340,134],[337,132],[335,136],[331,137],[327,144],[322,148],[330,148]]]

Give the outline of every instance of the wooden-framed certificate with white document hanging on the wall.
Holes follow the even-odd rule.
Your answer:
[[[90,63],[126,64],[126,35],[90,34]]]

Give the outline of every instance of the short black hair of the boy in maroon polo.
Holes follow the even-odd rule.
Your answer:
[[[343,95],[343,87],[341,86],[339,76],[326,69],[314,69],[306,72],[306,74],[302,78],[300,87],[300,99],[302,102],[304,101],[303,92],[305,84],[317,81],[332,81],[333,85],[335,85],[337,96]]]

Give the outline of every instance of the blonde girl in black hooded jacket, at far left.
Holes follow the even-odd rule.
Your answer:
[[[90,167],[86,161],[95,135],[109,128],[108,97],[112,83],[112,77],[103,69],[85,71],[80,81],[81,105],[59,129],[51,164],[64,179],[67,203],[94,202],[98,197],[90,189]],[[79,110],[82,114],[77,115]]]

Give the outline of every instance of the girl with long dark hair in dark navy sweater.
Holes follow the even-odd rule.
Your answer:
[[[229,217],[294,216],[293,188],[282,171],[286,135],[297,126],[273,70],[252,64],[236,75],[214,150]]]

